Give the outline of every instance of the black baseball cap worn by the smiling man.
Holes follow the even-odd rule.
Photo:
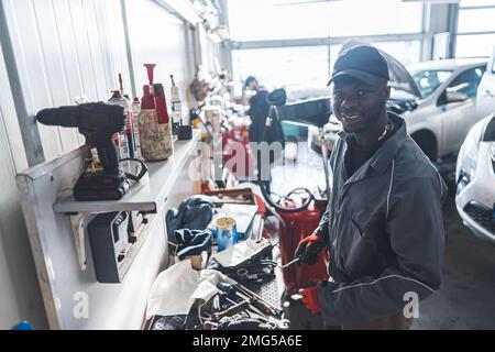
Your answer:
[[[371,45],[352,46],[342,52],[333,65],[333,74],[327,86],[339,77],[351,76],[369,85],[387,82],[388,65],[378,50]]]

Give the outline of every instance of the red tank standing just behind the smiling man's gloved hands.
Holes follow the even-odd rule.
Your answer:
[[[296,205],[286,202],[284,208],[295,208]],[[310,235],[320,222],[327,206],[326,204],[311,201],[309,207],[295,213],[278,212],[284,219],[285,226],[280,224],[279,246],[282,264],[294,260],[299,241]],[[296,263],[283,270],[284,282],[287,295],[297,293],[299,288],[314,286],[321,280],[328,280],[327,262],[328,251],[320,255],[315,265]]]

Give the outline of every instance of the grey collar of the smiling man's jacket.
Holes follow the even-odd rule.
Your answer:
[[[392,160],[398,153],[404,142],[407,139],[406,122],[399,116],[388,111],[388,118],[398,125],[397,131],[376,151],[375,155],[367,162],[373,169],[383,174]],[[340,131],[339,136],[346,143],[349,139],[353,138],[352,133]]]

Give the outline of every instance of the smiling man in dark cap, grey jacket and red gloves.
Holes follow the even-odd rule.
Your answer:
[[[386,111],[388,80],[380,52],[360,45],[339,56],[328,84],[343,131],[327,212],[296,255],[311,264],[330,251],[332,279],[301,292],[329,327],[408,329],[415,298],[440,287],[447,187],[404,120]]]

